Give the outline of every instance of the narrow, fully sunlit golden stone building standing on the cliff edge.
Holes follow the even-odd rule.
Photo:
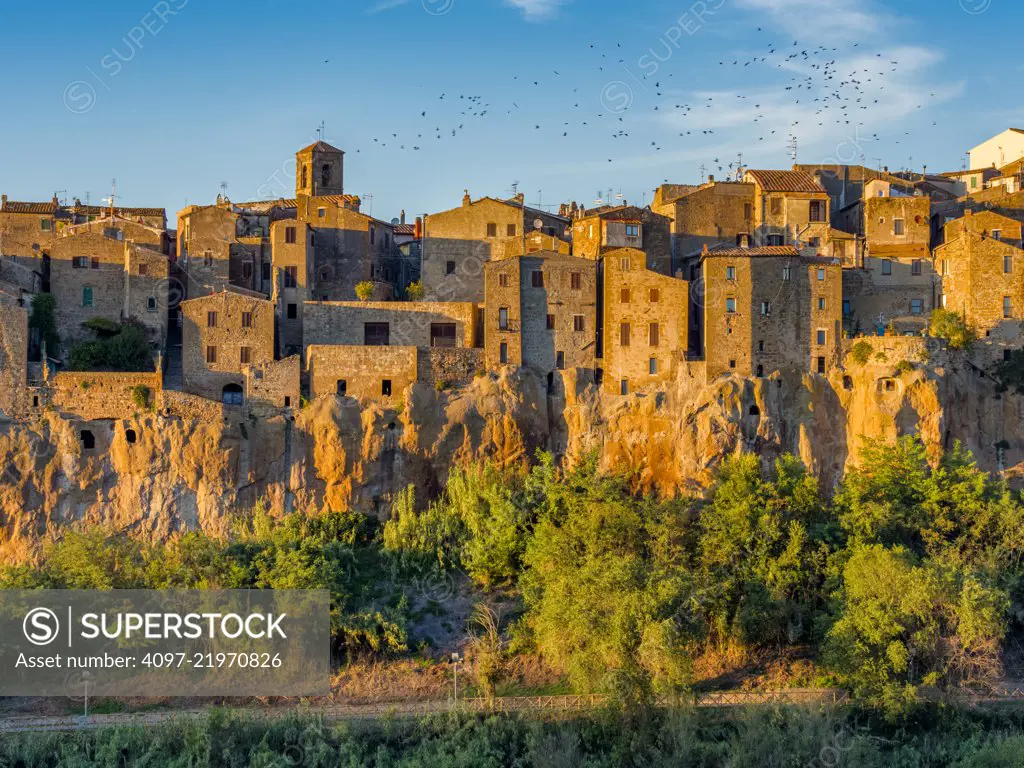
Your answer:
[[[601,258],[601,380],[620,394],[671,379],[688,344],[689,283],[646,261],[632,248]]]

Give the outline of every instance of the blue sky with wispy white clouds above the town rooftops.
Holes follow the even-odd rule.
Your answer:
[[[740,152],[784,167],[791,133],[801,163],[955,170],[1024,125],[1018,0],[106,0],[0,14],[0,190],[14,200],[96,203],[115,177],[126,205],[172,216],[222,182],[239,201],[291,195],[290,159],[322,121],[347,153],[346,191],[385,219],[514,181],[531,204],[608,189],[649,202],[701,165],[724,176]]]

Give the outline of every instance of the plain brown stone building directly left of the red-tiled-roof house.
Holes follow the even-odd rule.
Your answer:
[[[672,220],[672,273],[697,278],[705,246],[737,247],[754,234],[754,184],[716,181],[688,187],[665,184],[654,194],[654,211]]]

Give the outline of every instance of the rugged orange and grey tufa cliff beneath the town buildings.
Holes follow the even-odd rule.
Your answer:
[[[399,408],[323,397],[293,416],[232,422],[157,415],[83,422],[44,413],[0,422],[0,557],[80,522],[154,540],[228,530],[264,500],[274,512],[354,509],[386,516],[394,492],[438,493],[450,467],[511,464],[539,449],[572,463],[592,451],[638,489],[698,494],[729,455],[799,456],[826,486],[856,464],[863,440],[920,434],[935,456],[962,441],[980,465],[1016,478],[1024,461],[1024,399],[948,357],[903,366],[849,364],[829,378],[784,372],[680,375],[626,397],[579,387],[552,392],[504,370],[461,389],[417,384]],[[240,417],[241,418],[241,417]],[[92,437],[92,447],[83,440]]]

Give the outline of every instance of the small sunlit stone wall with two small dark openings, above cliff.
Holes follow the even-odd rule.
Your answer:
[[[306,349],[306,367],[313,399],[343,389],[347,397],[394,406],[418,376],[416,347],[313,345]],[[390,394],[384,382],[389,382]]]

